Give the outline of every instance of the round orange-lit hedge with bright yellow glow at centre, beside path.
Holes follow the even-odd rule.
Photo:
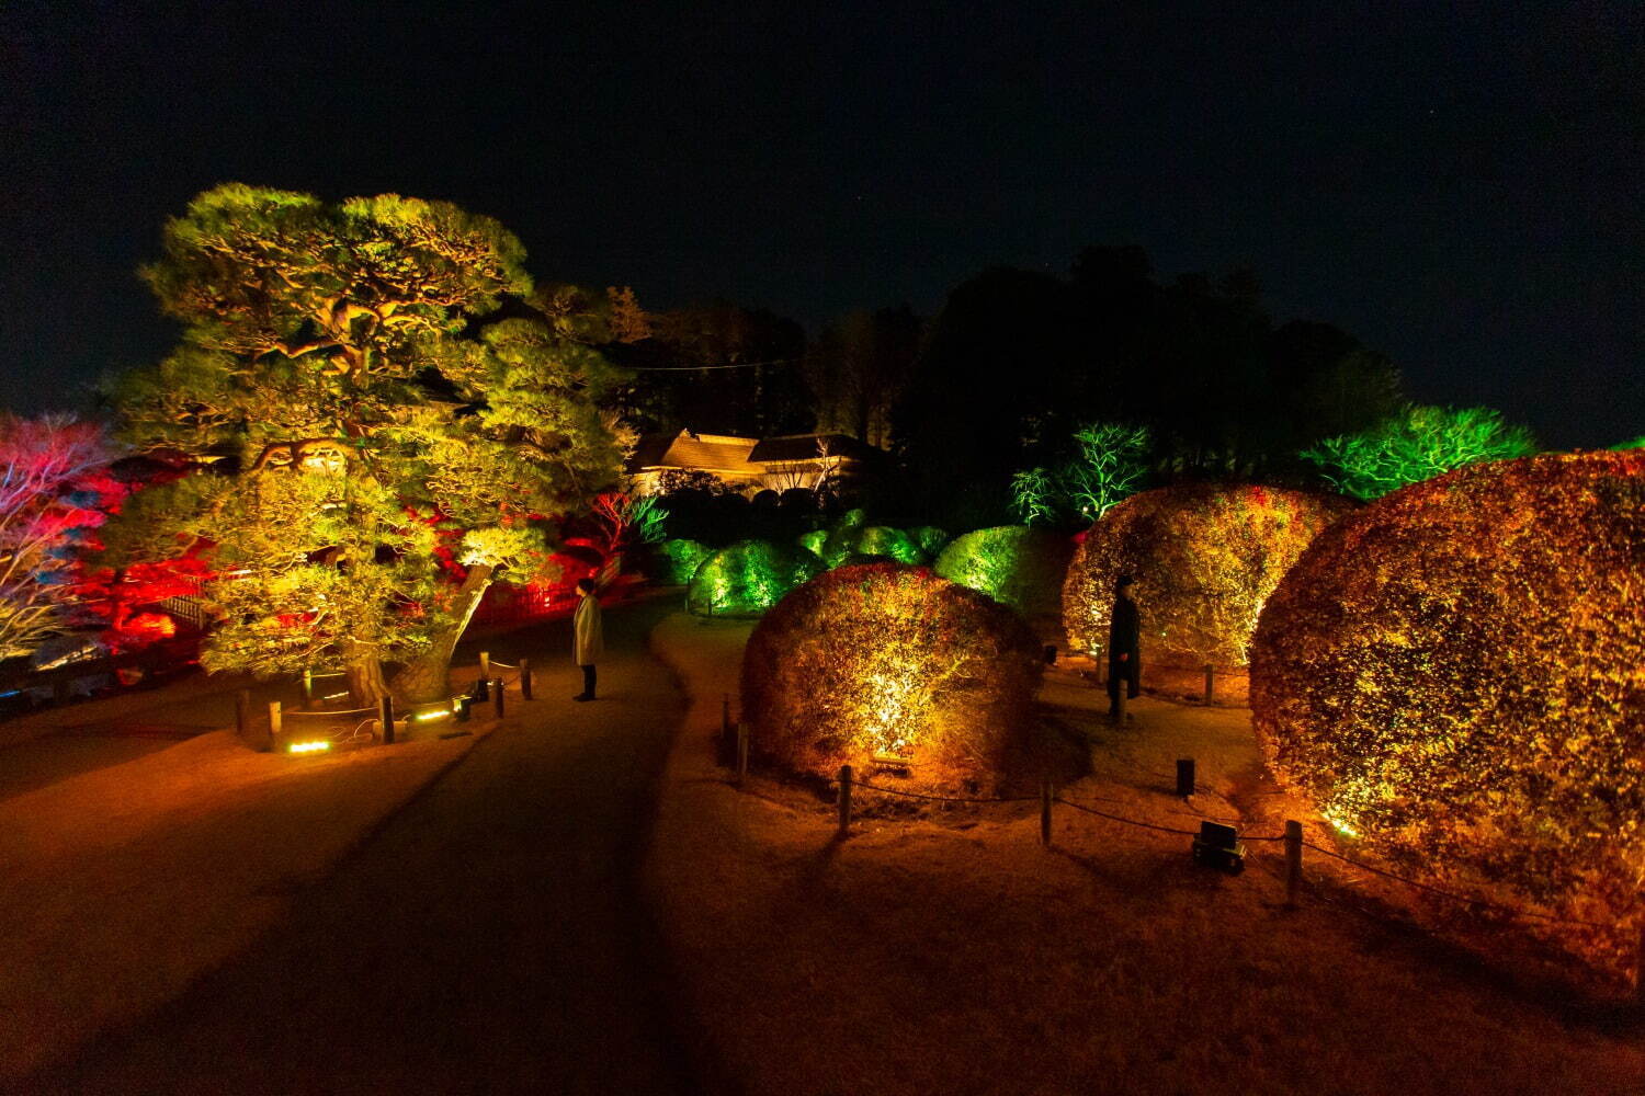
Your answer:
[[[1028,744],[1043,669],[1028,626],[974,590],[923,567],[841,567],[755,626],[744,716],[793,771],[893,754],[924,784],[994,784]]]

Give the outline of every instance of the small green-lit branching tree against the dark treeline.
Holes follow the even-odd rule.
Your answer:
[[[1074,431],[1076,455],[1012,477],[1012,503],[1031,526],[1084,524],[1133,495],[1148,475],[1148,427],[1092,422]]]

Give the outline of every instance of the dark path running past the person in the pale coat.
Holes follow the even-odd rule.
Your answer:
[[[26,1091],[697,1091],[637,884],[684,707],[645,652],[668,608],[609,611],[595,703],[569,700],[566,621],[490,639],[540,667],[525,728],[479,743],[250,953]]]

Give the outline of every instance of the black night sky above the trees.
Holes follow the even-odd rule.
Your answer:
[[[163,355],[133,271],[234,179],[451,199],[540,279],[813,330],[1140,243],[1420,399],[1645,434],[1642,5],[1451,7],[7,0],[0,404]]]

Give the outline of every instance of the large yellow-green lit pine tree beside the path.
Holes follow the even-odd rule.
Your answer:
[[[220,186],[143,271],[183,343],[114,393],[123,437],[199,472],[140,493],[125,555],[212,546],[209,669],[342,664],[357,703],[444,693],[487,585],[620,460],[604,360],[497,319],[531,292],[497,222],[393,194]],[[494,322],[495,320],[495,322]]]

